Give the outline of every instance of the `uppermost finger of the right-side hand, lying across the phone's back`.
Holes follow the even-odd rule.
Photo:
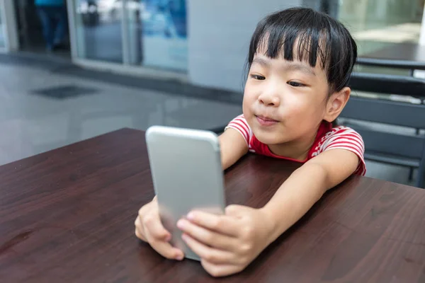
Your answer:
[[[210,214],[207,212],[190,212],[186,218],[198,226],[227,236],[238,236],[239,228],[234,225],[235,219],[230,216]]]

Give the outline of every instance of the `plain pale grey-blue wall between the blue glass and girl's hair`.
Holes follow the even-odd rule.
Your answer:
[[[242,91],[249,40],[268,13],[301,0],[187,0],[191,83]]]

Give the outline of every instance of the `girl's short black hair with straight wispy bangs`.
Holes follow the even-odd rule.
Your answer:
[[[272,59],[299,59],[311,67],[321,63],[329,93],[348,85],[357,59],[356,42],[344,25],[311,8],[288,8],[263,18],[251,37],[248,69],[261,47],[267,48],[264,54]]]

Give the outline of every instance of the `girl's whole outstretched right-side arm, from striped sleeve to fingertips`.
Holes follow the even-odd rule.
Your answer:
[[[225,215],[191,212],[177,226],[210,275],[240,272],[356,166],[358,157],[351,151],[325,151],[295,171],[265,207],[232,204]]]

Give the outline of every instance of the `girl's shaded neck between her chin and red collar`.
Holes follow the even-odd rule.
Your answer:
[[[297,161],[305,161],[316,139],[317,131],[308,137],[302,137],[284,144],[272,144],[268,148],[278,156],[285,156]]]

